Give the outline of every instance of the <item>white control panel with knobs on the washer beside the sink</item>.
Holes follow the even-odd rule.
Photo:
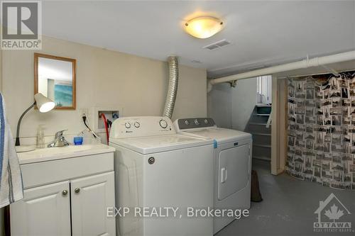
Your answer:
[[[173,123],[163,116],[122,117],[114,121],[110,138],[175,134]]]

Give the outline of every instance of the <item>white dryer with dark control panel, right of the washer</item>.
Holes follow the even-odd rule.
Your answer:
[[[214,139],[214,209],[249,209],[251,134],[217,128],[212,118],[178,119],[174,126],[184,135]],[[234,219],[214,217],[214,233]]]

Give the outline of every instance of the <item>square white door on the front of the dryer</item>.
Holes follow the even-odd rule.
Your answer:
[[[229,147],[219,152],[219,200],[246,187],[249,182],[249,158],[249,144]]]

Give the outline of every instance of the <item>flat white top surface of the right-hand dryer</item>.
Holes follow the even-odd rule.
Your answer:
[[[212,138],[216,140],[218,144],[251,138],[250,133],[225,128],[206,128],[204,130],[189,130],[183,133],[194,135],[195,137]]]

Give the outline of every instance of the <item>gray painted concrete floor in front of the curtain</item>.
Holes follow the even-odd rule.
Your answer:
[[[263,201],[251,203],[249,217],[234,220],[216,236],[355,235],[355,191],[331,189],[295,179],[288,174],[273,176],[268,162],[254,161],[253,169],[258,172]],[[350,211],[351,215],[344,217],[347,217],[346,222],[351,222],[352,232],[313,231],[313,223],[317,221],[314,212],[319,202],[324,201],[330,193],[334,193]]]

